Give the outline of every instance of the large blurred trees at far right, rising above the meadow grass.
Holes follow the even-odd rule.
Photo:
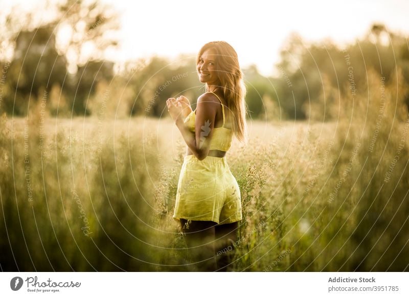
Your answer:
[[[331,120],[338,114],[334,105],[345,104],[339,98],[354,100],[358,92],[365,92],[370,68],[385,77],[385,83],[400,68],[405,78],[401,83],[407,84],[408,58],[405,37],[389,33],[383,24],[373,24],[362,40],[344,50],[328,40],[303,46],[302,39],[293,34],[276,65],[283,77],[278,97],[283,98],[280,103],[289,117]],[[405,104],[409,106],[408,97]]]

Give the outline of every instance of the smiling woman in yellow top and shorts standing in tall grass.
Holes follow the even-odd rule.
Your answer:
[[[226,271],[242,219],[240,189],[226,162],[233,136],[247,142],[245,87],[234,48],[209,42],[200,49],[197,73],[206,93],[193,111],[180,96],[167,100],[168,111],[187,144],[173,218],[200,271]]]

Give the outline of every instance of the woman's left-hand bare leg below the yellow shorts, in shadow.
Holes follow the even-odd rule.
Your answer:
[[[180,227],[188,246],[191,263],[198,271],[215,271],[215,229],[213,221],[180,219]]]

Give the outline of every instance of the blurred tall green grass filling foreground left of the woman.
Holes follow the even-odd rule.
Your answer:
[[[2,120],[2,269],[151,269],[154,201],[145,162],[158,168],[155,152],[141,151],[139,128],[109,135],[111,121],[81,131],[81,121],[54,130],[43,120],[40,113],[18,120],[13,148]]]

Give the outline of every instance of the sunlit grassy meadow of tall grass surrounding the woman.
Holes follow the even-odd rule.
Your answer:
[[[230,270],[408,270],[409,118],[372,79],[335,121],[248,121],[227,154],[243,207]],[[172,218],[186,145],[170,118],[39,107],[0,125],[3,271],[187,271]]]

